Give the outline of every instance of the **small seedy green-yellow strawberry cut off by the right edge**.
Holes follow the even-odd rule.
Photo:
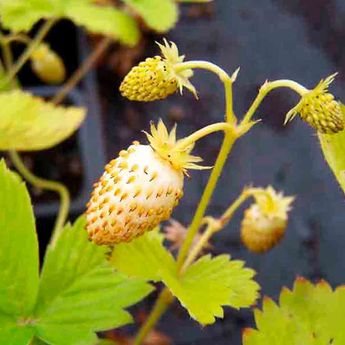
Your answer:
[[[299,113],[305,122],[322,134],[342,131],[345,119],[340,104],[328,93],[328,87],[334,77],[335,74],[321,80],[313,90],[308,90],[297,106],[289,111],[285,122],[292,120]]]

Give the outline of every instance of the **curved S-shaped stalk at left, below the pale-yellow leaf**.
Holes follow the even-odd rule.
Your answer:
[[[60,232],[63,229],[63,226],[66,223],[68,217],[68,211],[70,207],[70,195],[68,189],[60,182],[46,180],[40,177],[35,176],[24,164],[21,157],[16,151],[9,151],[9,156],[13,165],[18,170],[18,172],[31,183],[33,186],[51,190],[60,195],[60,209],[58,216],[55,221],[53,235],[51,238],[51,244],[54,246],[57,238],[60,235]]]

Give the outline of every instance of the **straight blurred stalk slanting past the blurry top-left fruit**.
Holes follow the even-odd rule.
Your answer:
[[[43,41],[43,39],[48,34],[49,30],[52,28],[55,22],[56,22],[56,19],[51,18],[51,19],[48,19],[46,22],[44,22],[44,24],[42,24],[42,26],[40,27],[34,39],[30,42],[30,44],[28,44],[28,46],[26,47],[22,55],[19,57],[17,62],[8,71],[7,77],[1,86],[7,85],[15,78],[17,73],[21,70],[24,64],[29,60],[32,52]]]

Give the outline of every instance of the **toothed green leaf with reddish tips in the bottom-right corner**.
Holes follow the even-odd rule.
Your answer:
[[[332,291],[325,281],[298,278],[292,291],[282,290],[279,304],[264,299],[263,310],[255,310],[257,330],[245,330],[244,345],[345,344],[344,286]]]

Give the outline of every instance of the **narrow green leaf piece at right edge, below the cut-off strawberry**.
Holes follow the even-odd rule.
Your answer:
[[[345,105],[341,105],[345,119]],[[345,193],[345,130],[337,134],[318,134],[323,154]]]

